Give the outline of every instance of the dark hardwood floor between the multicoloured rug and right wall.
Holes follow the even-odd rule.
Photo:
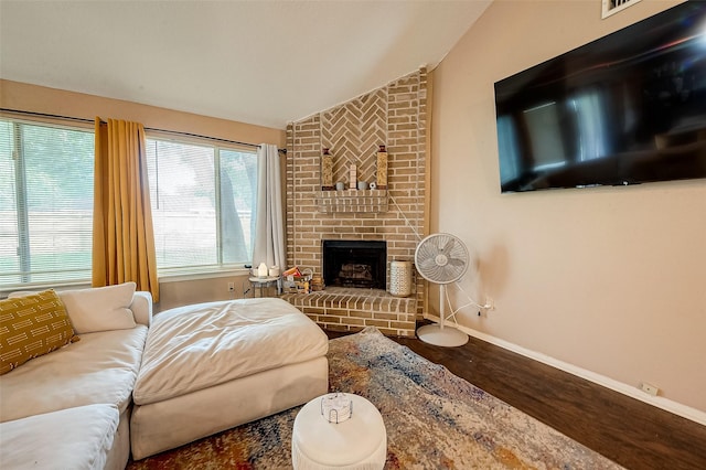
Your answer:
[[[706,426],[474,338],[391,339],[625,468],[706,469]]]

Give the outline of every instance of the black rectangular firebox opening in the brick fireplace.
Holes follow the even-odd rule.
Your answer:
[[[325,286],[385,289],[387,243],[324,239]]]

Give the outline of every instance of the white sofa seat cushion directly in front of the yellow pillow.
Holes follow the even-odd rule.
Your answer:
[[[125,412],[146,338],[145,325],[82,334],[79,342],[0,375],[0,421],[96,403]]]

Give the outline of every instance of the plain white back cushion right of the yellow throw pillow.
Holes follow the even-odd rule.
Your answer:
[[[135,328],[130,310],[135,282],[90,289],[60,290],[58,297],[78,334]]]

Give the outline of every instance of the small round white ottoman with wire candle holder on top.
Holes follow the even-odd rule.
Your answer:
[[[378,470],[387,459],[387,432],[379,412],[362,396],[345,394],[353,415],[329,423],[321,415],[321,398],[307,403],[295,418],[291,461],[296,470]]]

